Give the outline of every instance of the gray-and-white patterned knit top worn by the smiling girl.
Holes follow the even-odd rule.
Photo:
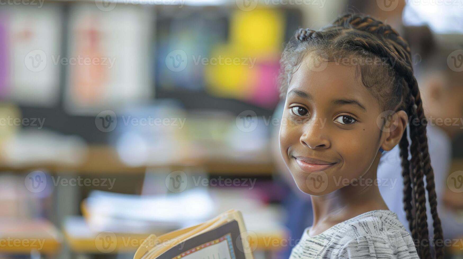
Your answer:
[[[310,237],[306,228],[289,259],[419,259],[412,236],[391,210],[371,210]]]

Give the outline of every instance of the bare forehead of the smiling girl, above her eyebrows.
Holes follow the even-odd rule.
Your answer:
[[[314,101],[332,101],[333,99],[357,99],[365,106],[379,110],[379,103],[362,84],[356,66],[344,66],[336,62],[326,62],[324,69],[314,67],[314,62],[307,56],[293,74],[288,92],[300,90],[310,93]],[[321,68],[323,68],[321,67]],[[373,86],[375,87],[375,86]],[[368,107],[367,107],[367,110]]]

